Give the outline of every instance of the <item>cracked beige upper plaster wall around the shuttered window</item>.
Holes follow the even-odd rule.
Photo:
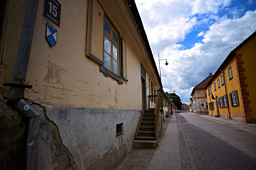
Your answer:
[[[99,64],[85,55],[88,1],[64,0],[61,3],[58,28],[43,17],[44,0],[39,1],[26,80],[33,88],[26,89],[25,98],[53,105],[142,109],[140,60],[129,42],[126,41],[129,81],[120,85],[110,76],[105,77],[99,71]],[[12,81],[25,8],[26,1],[11,1],[0,77],[3,96],[0,98],[7,98],[9,94],[10,87],[4,87],[3,83]],[[20,17],[17,18],[17,14]],[[115,19],[109,16],[121,36],[124,35]],[[46,23],[58,30],[57,44],[52,47],[45,39]],[[146,73],[147,83],[148,78]]]

